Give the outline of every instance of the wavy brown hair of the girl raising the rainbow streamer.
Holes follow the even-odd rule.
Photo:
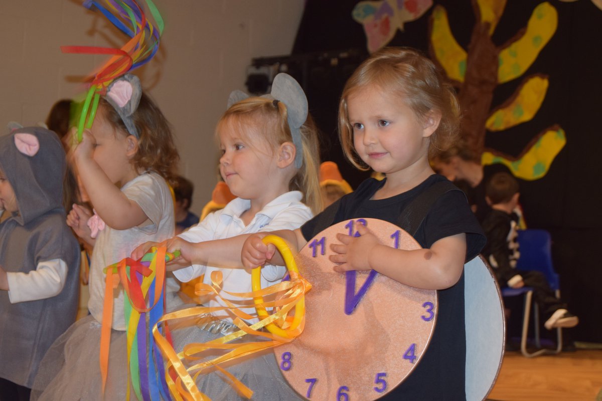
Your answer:
[[[104,112],[104,117],[111,126],[129,135],[123,120],[107,100],[101,97],[98,107]],[[176,185],[176,169],[180,156],[173,143],[169,121],[145,93],[142,93],[140,104],[131,117],[140,134],[138,150],[132,159],[134,167],[138,171],[155,171],[170,185]]]

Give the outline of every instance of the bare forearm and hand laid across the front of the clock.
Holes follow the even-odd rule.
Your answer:
[[[411,287],[442,290],[458,282],[464,269],[466,235],[444,237],[429,249],[407,251],[382,245],[368,228],[358,225],[359,237],[337,234],[342,244],[330,245],[341,265],[335,271],[370,270]]]

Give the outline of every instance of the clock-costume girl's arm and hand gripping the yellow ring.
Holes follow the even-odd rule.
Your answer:
[[[307,243],[300,228],[296,230],[278,230],[251,234],[244,241],[241,251],[244,268],[253,269],[264,265],[268,261],[272,265],[284,266],[284,260],[281,254],[276,252],[276,246],[271,243],[270,245],[265,245],[262,241],[269,234],[274,234],[287,241],[293,254],[297,254],[299,249],[303,248]]]

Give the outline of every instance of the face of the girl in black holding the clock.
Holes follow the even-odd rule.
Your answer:
[[[375,85],[352,93],[347,112],[355,151],[374,171],[390,178],[428,164],[429,136],[438,120],[418,118],[404,99]]]

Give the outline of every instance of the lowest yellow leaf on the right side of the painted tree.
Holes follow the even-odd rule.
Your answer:
[[[550,127],[532,141],[525,152],[513,159],[495,151],[485,151],[481,156],[482,165],[501,163],[523,180],[538,180],[550,169],[556,155],[566,144],[565,132],[559,126]]]

